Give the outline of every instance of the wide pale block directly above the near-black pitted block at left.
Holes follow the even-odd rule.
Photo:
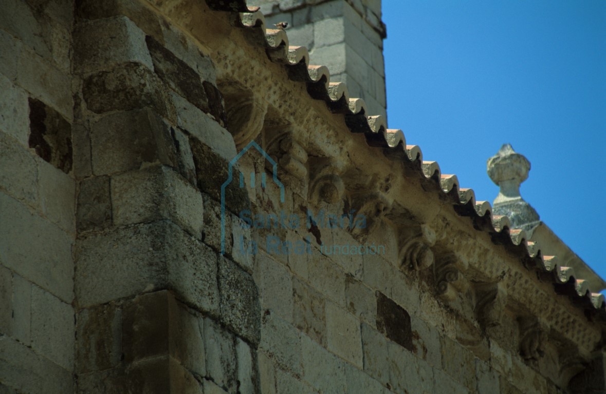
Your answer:
[[[18,84],[71,122],[74,102],[71,77],[27,47],[19,52]]]

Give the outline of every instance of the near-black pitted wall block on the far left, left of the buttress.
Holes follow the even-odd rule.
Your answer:
[[[30,136],[28,146],[38,156],[65,174],[72,171],[72,126],[45,103],[29,99]]]

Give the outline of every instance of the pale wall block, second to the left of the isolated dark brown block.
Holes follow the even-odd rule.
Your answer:
[[[321,254],[312,256],[309,267],[311,286],[338,305],[345,306],[345,273]]]

